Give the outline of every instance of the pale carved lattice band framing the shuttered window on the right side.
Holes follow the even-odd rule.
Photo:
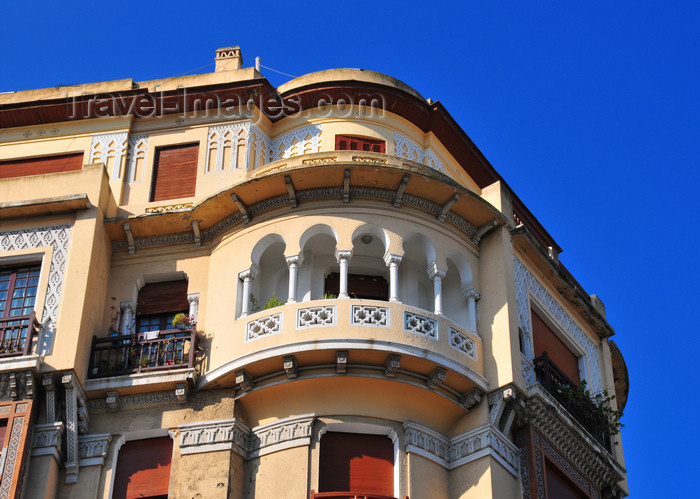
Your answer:
[[[578,345],[586,352],[586,365],[588,367],[588,386],[596,393],[603,389],[600,374],[600,363],[598,362],[598,348],[595,342],[581,329],[573,318],[559,305],[554,297],[537,280],[530,270],[513,256],[515,269],[515,293],[518,307],[518,325],[523,331],[526,345],[525,355],[532,358],[532,325],[530,324],[530,300],[529,294],[535,296],[547,311],[554,317],[562,330],[571,336]]]

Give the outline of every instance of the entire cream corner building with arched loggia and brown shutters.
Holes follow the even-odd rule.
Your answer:
[[[230,47],[0,127],[0,497],[627,495],[602,302],[439,102]]]

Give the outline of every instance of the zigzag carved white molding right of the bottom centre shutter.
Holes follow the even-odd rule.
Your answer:
[[[491,456],[514,477],[520,475],[520,450],[491,424],[452,438],[413,421],[406,421],[403,428],[406,452],[423,456],[448,470]]]

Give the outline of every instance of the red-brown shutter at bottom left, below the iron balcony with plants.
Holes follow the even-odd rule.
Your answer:
[[[112,498],[166,497],[172,455],[170,437],[126,442],[119,449]]]

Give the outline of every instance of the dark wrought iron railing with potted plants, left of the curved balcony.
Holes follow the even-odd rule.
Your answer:
[[[88,376],[102,378],[194,366],[194,327],[92,338]]]

